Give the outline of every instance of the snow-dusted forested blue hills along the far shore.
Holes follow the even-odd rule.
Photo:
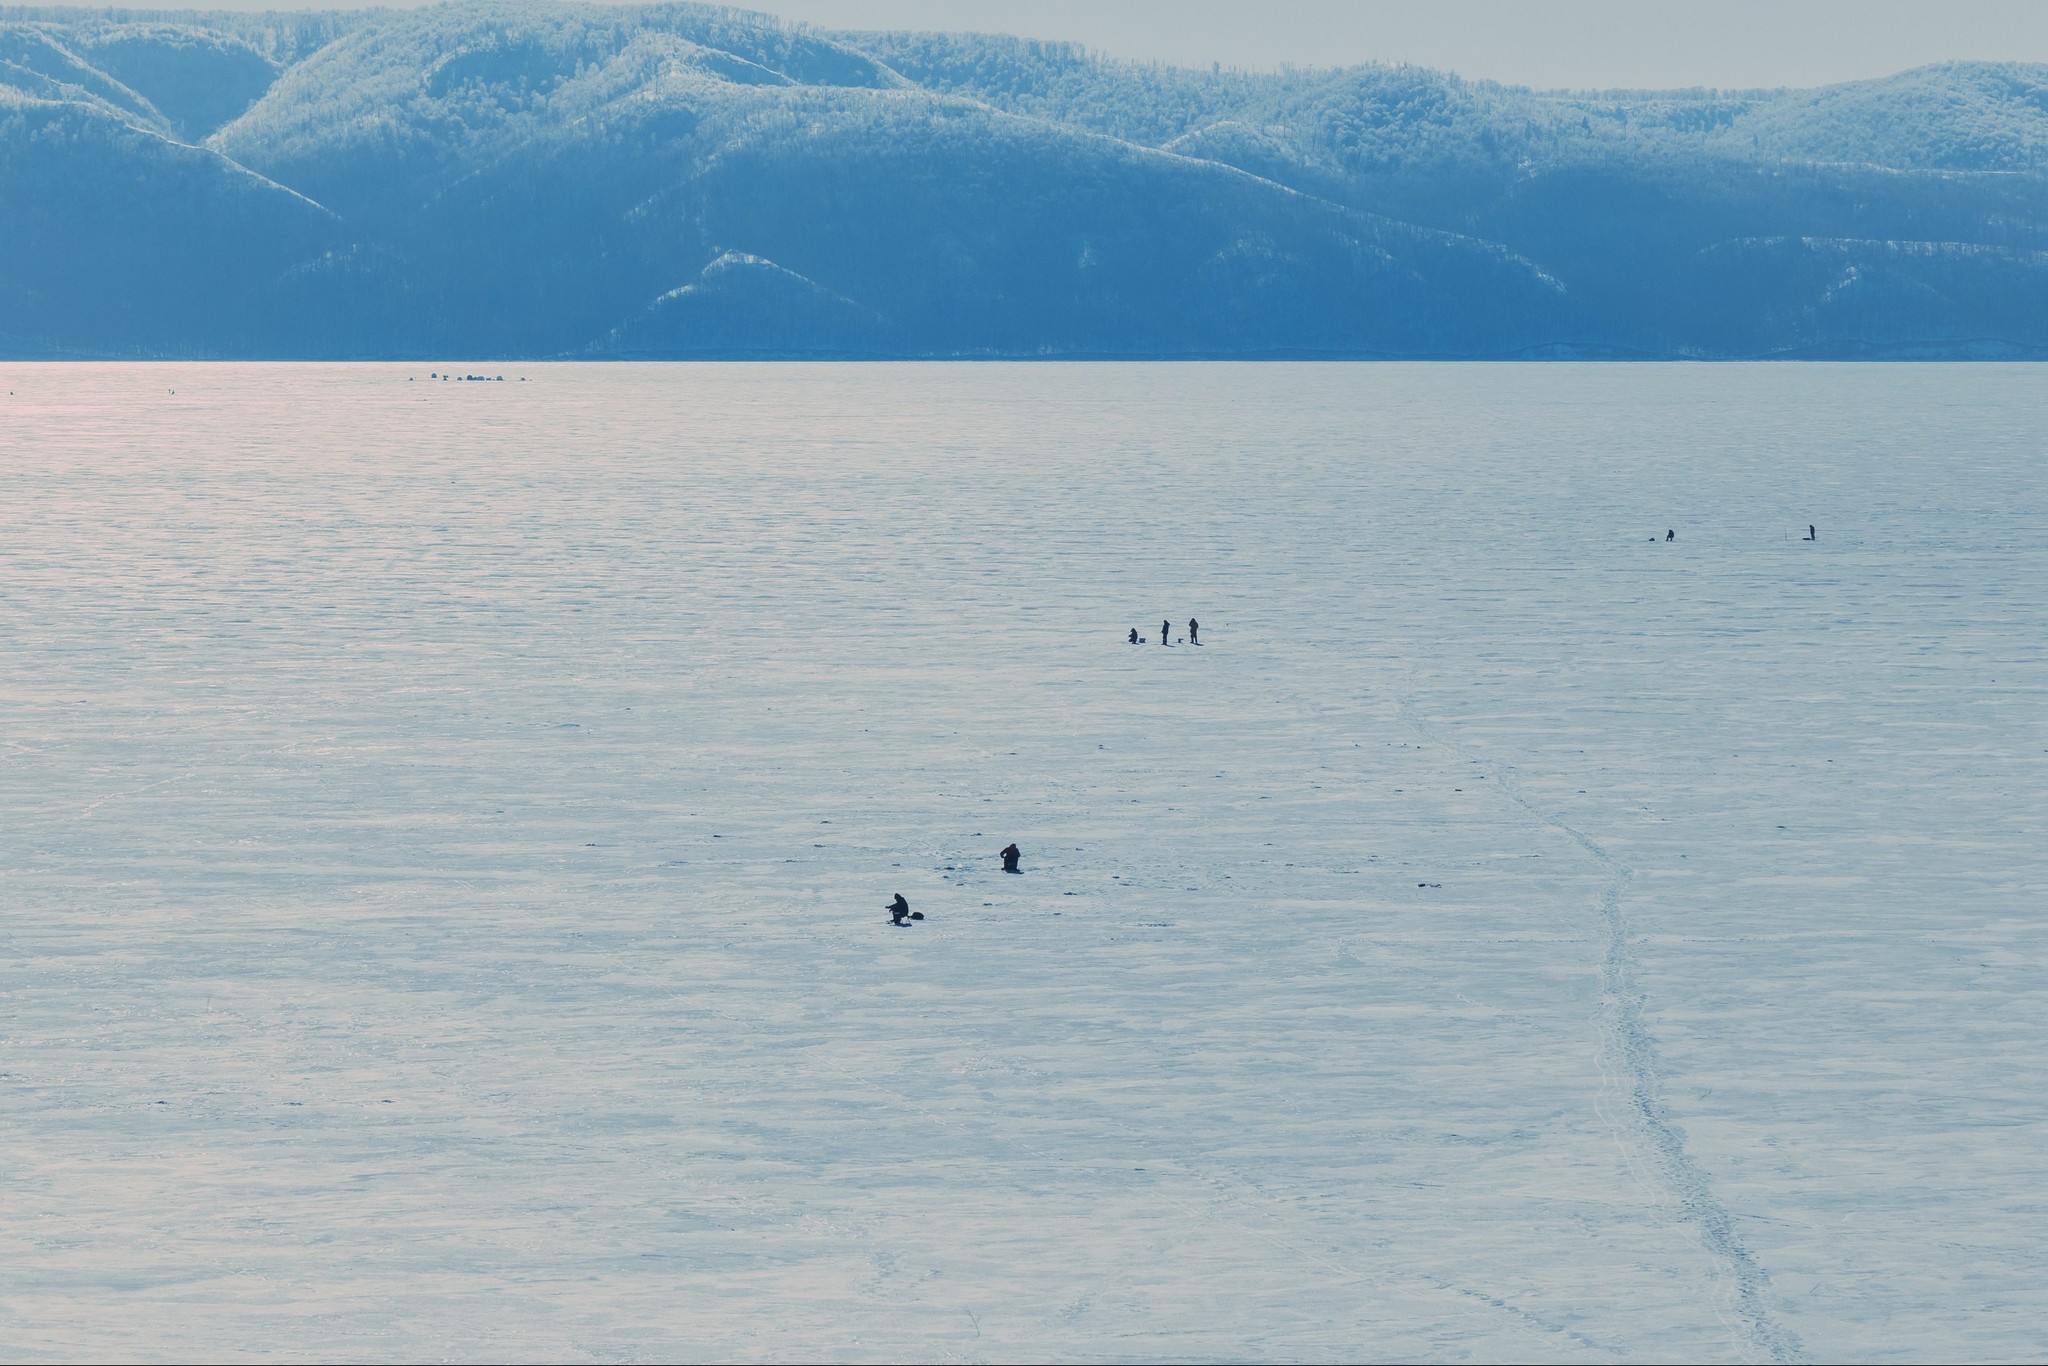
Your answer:
[[[2048,356],[2048,66],[1532,92],[700,4],[0,10],[6,356]]]

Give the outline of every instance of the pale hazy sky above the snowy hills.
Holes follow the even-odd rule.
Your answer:
[[[340,8],[336,0],[227,4]],[[1950,57],[2048,61],[2048,0],[754,0],[745,8],[827,27],[1073,39],[1194,66],[1415,61],[1532,86],[1810,86]]]

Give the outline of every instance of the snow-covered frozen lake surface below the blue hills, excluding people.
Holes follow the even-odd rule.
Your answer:
[[[0,369],[0,1356],[2048,1354],[2048,371],[428,369]]]

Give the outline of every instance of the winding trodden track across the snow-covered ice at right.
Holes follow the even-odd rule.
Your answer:
[[[1430,729],[1430,725],[1415,715],[1415,707],[1407,698],[1399,700],[1399,709],[1401,719],[1409,725],[1409,729],[1421,735],[1427,743],[1450,750],[1452,754],[1475,764],[1481,762],[1477,756],[1442,739],[1434,729]],[[1599,899],[1599,915],[1608,926],[1608,946],[1599,965],[1599,1055],[1604,1083],[1610,1075],[1614,1075],[1610,1063],[1620,1061],[1622,1065],[1628,1090],[1630,1122],[1616,1124],[1614,1118],[1606,1114],[1606,1106],[1599,1106],[1602,1120],[1616,1130],[1614,1137],[1622,1145],[1622,1155],[1628,1159],[1628,1167],[1632,1171],[1636,1169],[1636,1145],[1628,1141],[1626,1130],[1636,1130],[1642,1147],[1651,1153],[1651,1161],[1663,1190],[1677,1200],[1679,1219],[1694,1227],[1702,1249],[1722,1266],[1722,1272],[1735,1290],[1735,1315],[1739,1319],[1737,1323],[1729,1323],[1729,1327],[1735,1331],[1737,1348],[1743,1352],[1745,1360],[1802,1360],[1804,1348],[1800,1346],[1798,1335],[1772,1317],[1765,1298],[1772,1282],[1769,1272],[1765,1272],[1755,1255],[1751,1255],[1751,1251],[1743,1245],[1743,1239],[1735,1229],[1735,1219],[1729,1214],[1729,1208],[1718,1200],[1718,1196],[1714,1196],[1712,1178],[1708,1178],[1706,1169],[1700,1167],[1700,1163],[1686,1151],[1686,1130],[1673,1122],[1671,1112],[1663,1102],[1663,1079],[1657,1075],[1657,1040],[1642,1022],[1642,991],[1634,985],[1634,950],[1630,948],[1628,915],[1622,911],[1622,895],[1634,879],[1634,868],[1614,858],[1583,829],[1550,815],[1524,797],[1520,784],[1516,784],[1509,776],[1509,764],[1499,760],[1485,762],[1495,772],[1499,791],[1507,797],[1507,801],[1518,805],[1536,821],[1569,838],[1612,879]],[[1720,1313],[1720,1307],[1716,1307],[1716,1315],[1724,1323],[1729,1321],[1726,1315]]]

